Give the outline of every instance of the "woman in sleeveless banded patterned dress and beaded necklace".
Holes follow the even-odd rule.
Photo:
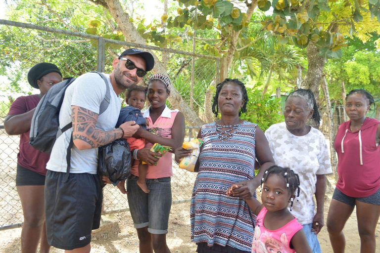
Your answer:
[[[244,198],[255,195],[264,171],[274,165],[268,141],[257,124],[239,119],[246,112],[247,91],[238,79],[217,85],[212,106],[221,119],[203,125],[198,138],[204,140],[195,166],[198,175],[190,205],[191,241],[198,253],[251,252],[255,215]],[[189,156],[175,151],[176,162]],[[255,159],[262,165],[254,176]],[[234,183],[243,183],[235,197],[225,194]]]

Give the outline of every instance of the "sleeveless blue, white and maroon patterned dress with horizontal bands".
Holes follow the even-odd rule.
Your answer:
[[[190,204],[191,241],[251,251],[256,216],[243,199],[228,197],[226,191],[254,177],[256,126],[244,121],[226,143],[215,122],[202,127],[204,143]]]

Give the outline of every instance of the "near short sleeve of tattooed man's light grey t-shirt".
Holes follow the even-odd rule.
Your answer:
[[[99,114],[99,107],[106,92],[103,79],[96,73],[87,73],[75,81],[71,106],[83,107]]]

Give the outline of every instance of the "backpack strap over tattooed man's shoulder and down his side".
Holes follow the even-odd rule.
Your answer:
[[[108,85],[107,79],[103,76],[103,74],[101,74],[99,72],[96,72],[96,71],[91,71],[91,73],[97,73],[103,79],[104,84],[105,84],[105,96],[104,96],[103,100],[101,101],[100,107],[99,107],[99,114],[98,115],[100,115],[105,110],[107,110],[107,108],[109,106],[109,103],[111,101],[111,99],[110,99],[111,98],[111,93],[110,93],[110,90],[109,90],[109,85]],[[66,130],[70,129],[71,127],[73,127],[73,123],[72,122],[70,122],[66,126],[62,127],[61,132],[63,133]],[[67,150],[66,150],[66,163],[67,163],[66,173],[65,173],[65,176],[62,179],[62,182],[67,182],[67,180],[69,179],[70,168],[71,168],[71,149],[72,149],[73,146],[74,146],[73,134],[71,133],[70,142],[69,142],[69,145],[68,145]]]

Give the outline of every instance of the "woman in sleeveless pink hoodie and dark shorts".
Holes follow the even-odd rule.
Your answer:
[[[334,253],[343,253],[343,227],[356,206],[360,252],[375,253],[375,229],[380,216],[380,122],[366,118],[373,96],[365,89],[346,96],[350,118],[339,126],[334,141],[338,155],[336,189],[332,196],[327,229]]]

